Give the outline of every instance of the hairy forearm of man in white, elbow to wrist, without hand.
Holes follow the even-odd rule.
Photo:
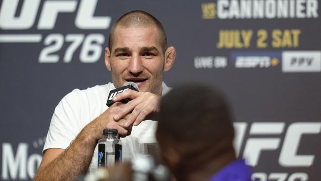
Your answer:
[[[99,137],[99,134],[93,135],[97,132],[93,122],[81,130],[66,150],[40,169],[34,181],[69,181],[85,174]]]

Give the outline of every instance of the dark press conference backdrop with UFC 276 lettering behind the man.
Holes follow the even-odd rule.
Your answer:
[[[238,155],[259,181],[321,180],[318,0],[0,0],[0,180],[31,180],[60,99],[111,82],[111,25],[140,9],[164,25],[173,87],[229,97]],[[198,94],[201,92],[195,92]],[[195,120],[197,124],[197,120]]]

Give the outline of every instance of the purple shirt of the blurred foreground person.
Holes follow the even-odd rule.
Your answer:
[[[252,170],[244,160],[235,160],[219,170],[209,181],[251,181]]]

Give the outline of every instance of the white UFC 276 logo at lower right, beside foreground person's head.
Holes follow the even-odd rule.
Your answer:
[[[308,181],[309,175],[302,171],[310,170],[316,155],[313,150],[299,153],[304,147],[304,136],[316,136],[321,133],[321,122],[295,122],[286,126],[285,122],[246,122],[234,123],[236,136],[234,147],[236,153],[245,158],[248,165],[260,168],[260,159],[268,154],[279,154],[277,160],[270,159],[276,171],[270,173],[256,172],[251,176],[252,181]],[[283,136],[284,135],[284,136]],[[246,137],[246,138],[245,138]],[[280,151],[281,150],[281,151]],[[316,152],[316,151],[314,151]],[[275,158],[275,157],[273,157]],[[281,168],[287,168],[287,173],[282,173]],[[300,168],[301,172],[294,172],[290,168]],[[292,172],[291,172],[292,170]],[[257,169],[256,169],[257,171]],[[284,172],[284,171],[283,171]]]

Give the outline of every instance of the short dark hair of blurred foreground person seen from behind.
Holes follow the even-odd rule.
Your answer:
[[[233,141],[228,103],[219,91],[200,84],[174,88],[161,98],[158,134],[179,144],[213,145]]]

